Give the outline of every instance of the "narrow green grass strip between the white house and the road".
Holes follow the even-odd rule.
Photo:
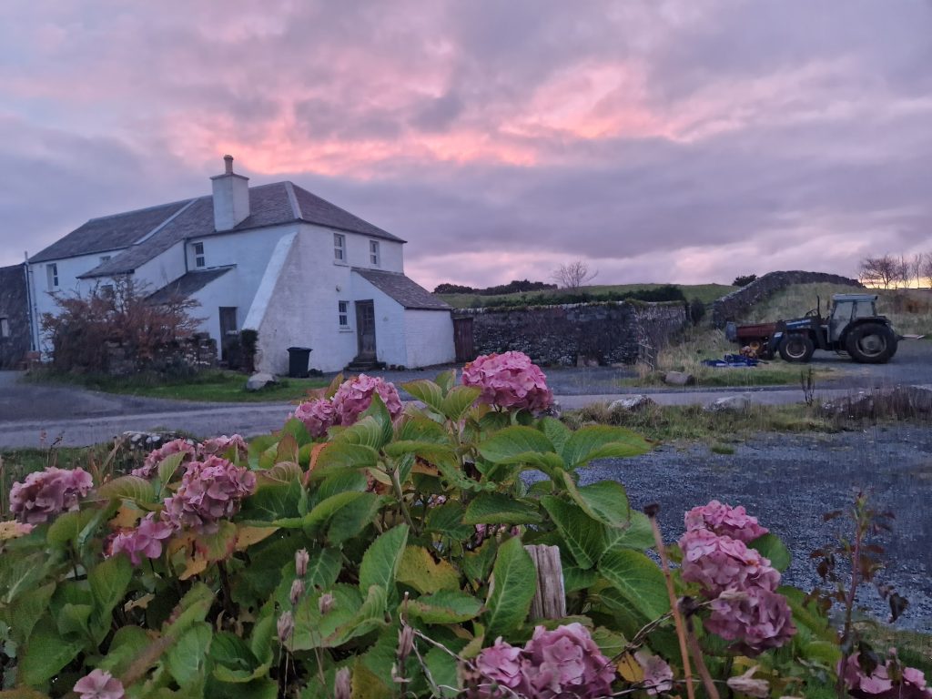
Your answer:
[[[246,391],[246,377],[233,371],[203,371],[192,377],[159,377],[139,374],[132,377],[101,377],[33,372],[25,380],[34,383],[59,383],[81,386],[92,391],[119,393],[145,398],[205,403],[270,403],[295,401],[309,389],[320,389],[330,382],[326,378],[280,378],[261,391]]]

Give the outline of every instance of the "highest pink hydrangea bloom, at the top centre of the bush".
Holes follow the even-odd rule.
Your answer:
[[[541,412],[554,402],[554,394],[547,388],[547,377],[524,352],[476,357],[463,367],[462,382],[482,389],[481,403],[503,408]]]

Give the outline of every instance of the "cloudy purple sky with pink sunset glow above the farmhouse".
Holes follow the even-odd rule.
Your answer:
[[[222,156],[432,288],[932,251],[932,0],[7,0],[0,265]]]

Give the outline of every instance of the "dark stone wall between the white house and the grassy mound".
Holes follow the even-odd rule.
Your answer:
[[[516,349],[535,363],[563,366],[634,363],[640,342],[659,348],[687,322],[680,302],[464,308],[454,316],[473,318],[476,355]]]

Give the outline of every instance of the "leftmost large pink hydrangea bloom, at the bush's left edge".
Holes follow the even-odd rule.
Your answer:
[[[83,469],[66,471],[49,466],[45,471],[30,473],[22,483],[14,483],[9,491],[9,510],[27,524],[47,522],[49,517],[76,510],[94,483]]]

